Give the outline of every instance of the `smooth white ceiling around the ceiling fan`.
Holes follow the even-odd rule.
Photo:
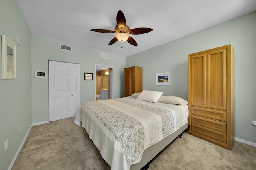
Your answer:
[[[256,0],[17,0],[33,35],[50,37],[122,56],[184,37],[212,25],[256,10]],[[141,35],[130,35],[138,46],[117,41],[114,30],[118,10],[124,13],[130,29],[152,28]],[[69,45],[69,44],[66,45]]]

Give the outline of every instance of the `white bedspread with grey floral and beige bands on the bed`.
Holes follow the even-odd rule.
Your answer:
[[[82,121],[89,137],[112,169],[123,167],[128,170],[131,164],[141,160],[145,149],[179,129],[187,123],[187,118],[188,106],[155,104],[126,97],[83,103],[75,123],[79,125]],[[95,132],[96,129],[88,124],[102,132]],[[101,137],[97,138],[95,133]],[[111,141],[112,144],[99,143],[102,136],[108,139],[102,141]],[[108,145],[113,145],[115,151],[108,150]],[[115,155],[116,151],[123,155],[122,161]],[[118,165],[120,163],[122,166]]]

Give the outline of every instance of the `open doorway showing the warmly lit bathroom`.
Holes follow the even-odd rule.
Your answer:
[[[114,98],[114,67],[95,64],[95,100]]]

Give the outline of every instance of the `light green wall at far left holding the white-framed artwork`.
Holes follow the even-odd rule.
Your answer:
[[[2,80],[0,59],[0,169],[6,170],[31,126],[31,33],[16,0],[0,2],[0,35],[16,45],[16,79]],[[21,45],[17,44],[18,35]],[[1,47],[2,41],[2,56]],[[5,150],[7,139],[9,147]]]

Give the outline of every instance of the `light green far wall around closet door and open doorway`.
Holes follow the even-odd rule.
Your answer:
[[[71,45],[72,51],[60,49],[60,43]],[[84,50],[83,50],[84,49]],[[95,64],[115,68],[115,98],[124,96],[124,68],[126,57],[107,53],[109,59],[101,58],[101,53],[79,45],[51,38],[32,35],[32,123],[49,121],[48,78],[35,78],[35,70],[48,71],[48,61],[62,61],[80,64],[80,102],[95,100],[94,80],[84,80],[84,72],[95,73]],[[90,87],[87,84],[90,83]]]

